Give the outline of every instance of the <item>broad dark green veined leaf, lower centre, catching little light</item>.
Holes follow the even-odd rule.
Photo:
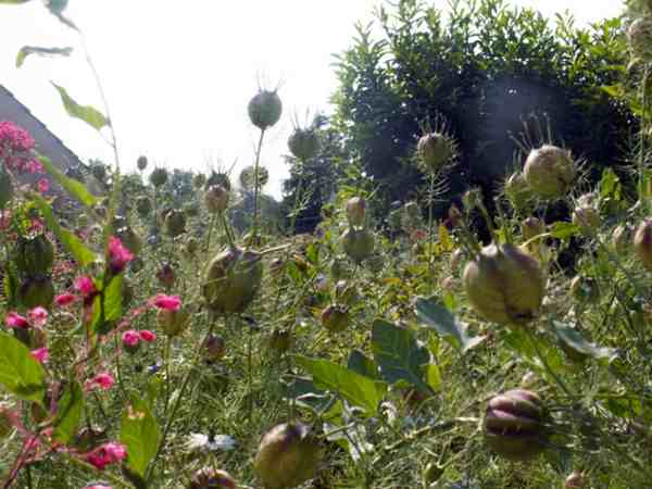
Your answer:
[[[424,393],[432,393],[424,378],[430,352],[416,342],[411,330],[387,321],[375,321],[372,326],[372,351],[385,380],[390,384],[405,380]]]

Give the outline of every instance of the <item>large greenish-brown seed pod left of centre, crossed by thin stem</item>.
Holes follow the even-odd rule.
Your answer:
[[[209,308],[221,313],[243,312],[253,301],[263,277],[262,255],[228,248],[209,263],[202,294]]]

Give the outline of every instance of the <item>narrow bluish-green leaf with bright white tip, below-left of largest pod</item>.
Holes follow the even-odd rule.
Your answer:
[[[465,326],[459,323],[443,304],[434,299],[416,299],[416,317],[424,326],[434,328],[453,348],[462,349],[462,352],[477,347],[485,340],[484,336],[468,336]]]

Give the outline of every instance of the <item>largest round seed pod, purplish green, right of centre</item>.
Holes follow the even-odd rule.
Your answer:
[[[490,244],[471,261],[463,275],[473,309],[488,321],[527,324],[543,300],[539,262],[513,244]]]

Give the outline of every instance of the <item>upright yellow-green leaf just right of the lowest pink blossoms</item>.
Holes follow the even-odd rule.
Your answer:
[[[120,440],[127,448],[127,466],[143,477],[161,441],[161,429],[149,405],[133,398],[122,416]]]

